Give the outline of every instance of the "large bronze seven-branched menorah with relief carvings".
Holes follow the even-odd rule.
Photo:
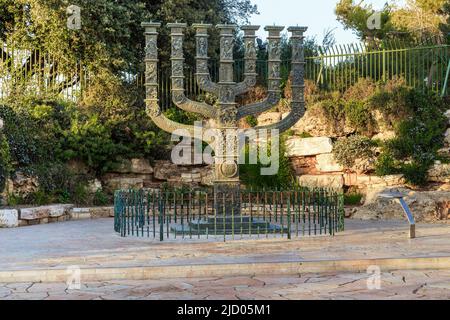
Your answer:
[[[194,136],[195,126],[185,125],[171,121],[161,112],[158,100],[158,28],[160,23],[143,23],[145,28],[145,86],[146,86],[146,108],[151,119],[161,129],[173,133],[177,130],[189,132]],[[208,69],[208,29],[209,24],[194,24],[196,29],[196,80],[201,90],[211,93],[218,98],[217,105],[208,105],[203,102],[192,101],[184,93],[184,55],[183,38],[185,23],[170,23],[167,27],[171,31],[172,43],[172,100],[174,104],[187,112],[195,112],[206,118],[214,119],[217,130],[221,132],[224,143],[215,141],[215,190],[220,192],[231,192],[234,194],[239,190],[239,167],[238,147],[235,142],[227,141],[225,131],[238,129],[238,121],[249,115],[256,115],[276,106],[281,98],[281,35],[284,27],[267,26],[268,32],[268,95],[265,100],[238,107],[236,97],[248,92],[256,85],[256,61],[257,52],[255,47],[256,31],[259,26],[243,26],[245,46],[245,73],[244,80],[240,83],[234,82],[234,35],[236,25],[221,24],[216,28],[220,32],[220,72],[219,82],[211,81]],[[306,27],[290,27],[292,45],[292,103],[291,112],[287,117],[276,124],[255,127],[254,129],[279,130],[283,132],[297,123],[305,111],[304,102],[304,47],[303,39]],[[208,138],[207,143],[212,144]],[[232,144],[232,148],[227,148]],[[231,151],[230,151],[231,150]],[[228,190],[228,191],[227,191]]]

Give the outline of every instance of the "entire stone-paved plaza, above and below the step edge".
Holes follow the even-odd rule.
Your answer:
[[[203,278],[180,278],[174,272],[158,280],[97,281],[82,277],[79,290],[69,290],[65,281],[4,281],[8,283],[0,283],[0,299],[450,299],[450,268],[425,265],[417,270],[414,264],[414,259],[436,262],[450,257],[450,225],[446,224],[419,224],[416,239],[408,239],[404,221],[348,220],[346,231],[335,237],[227,242],[121,238],[112,231],[112,224],[112,219],[99,219],[1,229],[0,273],[47,272],[74,265],[81,269],[126,270],[199,265],[214,269],[218,264],[242,264],[251,273],[252,264],[264,263],[411,261],[397,270],[380,269],[379,289],[368,286],[374,279],[370,272],[277,275],[275,270],[267,275],[205,274]]]

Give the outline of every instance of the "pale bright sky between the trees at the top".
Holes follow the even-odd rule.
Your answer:
[[[264,26],[307,26],[307,36],[316,36],[319,43],[325,30],[334,29],[337,44],[357,42],[351,30],[344,30],[336,20],[334,8],[338,0],[252,0],[258,6],[259,15],[250,18],[252,24],[261,25],[258,36],[265,38]],[[359,2],[359,0],[358,0]],[[388,0],[364,0],[375,10],[382,9]],[[398,2],[398,1],[397,1]]]

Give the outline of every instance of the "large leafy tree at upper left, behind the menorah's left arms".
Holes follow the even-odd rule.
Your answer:
[[[66,9],[71,4],[82,8],[80,31],[66,27]],[[80,60],[121,75],[135,73],[142,62],[142,21],[239,23],[254,13],[257,8],[250,0],[2,0],[0,40],[14,40],[21,48],[44,49],[66,61]],[[165,59],[170,46],[167,32],[161,31]],[[193,48],[192,32],[187,37]],[[24,69],[31,70],[39,62],[40,57],[32,56]],[[8,53],[2,50],[1,57],[6,61]]]

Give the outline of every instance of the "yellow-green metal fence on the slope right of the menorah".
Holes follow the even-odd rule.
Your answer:
[[[306,77],[320,87],[344,91],[359,78],[387,81],[402,77],[408,86],[446,95],[450,46],[422,43],[417,46],[391,41],[377,47],[364,44],[320,49],[307,57]]]

